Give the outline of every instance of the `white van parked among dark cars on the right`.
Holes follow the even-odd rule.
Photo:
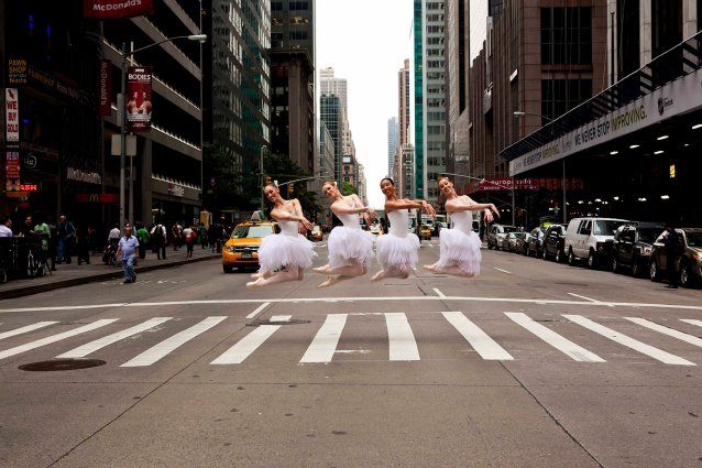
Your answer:
[[[612,252],[612,241],[617,228],[630,224],[617,218],[573,218],[566,230],[563,249],[568,264],[574,265],[581,259],[588,259],[588,268],[594,269],[606,261]]]

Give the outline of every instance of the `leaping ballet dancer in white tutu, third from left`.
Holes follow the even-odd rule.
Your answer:
[[[395,183],[390,177],[381,181],[381,192],[385,195],[385,216],[390,221],[390,232],[376,240],[377,261],[382,270],[371,281],[404,279],[415,269],[419,250],[419,238],[408,230],[409,209],[421,208],[429,216],[435,216],[436,213],[427,202],[397,198]]]

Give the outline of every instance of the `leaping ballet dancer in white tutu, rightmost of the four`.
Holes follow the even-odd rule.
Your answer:
[[[483,210],[485,221],[493,220],[493,211],[500,213],[495,205],[479,204],[468,195],[459,196],[448,177],[437,179],[439,192],[446,197],[446,211],[453,220],[452,229],[439,231],[439,260],[431,265],[424,265],[434,273],[452,274],[472,277],[480,274],[480,237],[473,231],[473,211]]]

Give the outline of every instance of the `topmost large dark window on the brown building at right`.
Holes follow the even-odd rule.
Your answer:
[[[541,64],[592,62],[592,9],[541,8]]]

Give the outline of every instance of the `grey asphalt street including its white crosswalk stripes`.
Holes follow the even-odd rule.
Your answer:
[[[487,250],[369,279],[211,260],[0,302],[0,466],[702,467],[702,291]],[[57,359],[105,363],[19,369]]]

